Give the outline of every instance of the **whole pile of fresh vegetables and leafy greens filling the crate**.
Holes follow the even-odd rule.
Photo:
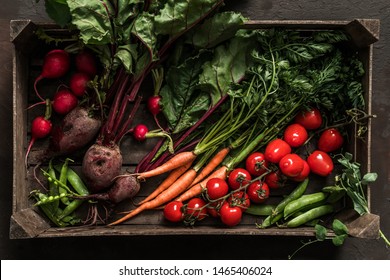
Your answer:
[[[368,212],[361,190],[374,174],[356,189],[337,168],[352,159],[351,125],[361,137],[372,117],[363,64],[343,31],[245,29],[247,19],[217,0],[45,4],[75,34],[69,42],[37,32],[64,46],[45,56],[34,83],[33,107],[44,104],[45,113],[32,124],[26,153],[27,165],[32,144],[50,136],[39,162],[49,162],[41,170],[50,187],[32,195],[57,226],[80,222],[61,204],[76,202],[93,209],[84,221],[111,226],[161,207],[155,211],[167,222],[192,226],[209,216],[216,226],[238,226],[243,215],[262,217],[254,224],[261,229],[325,225],[347,196],[359,214]],[[41,93],[48,79],[61,81],[55,94]],[[144,107],[152,127],[137,117]],[[123,166],[128,135],[137,145],[160,138],[134,172]],[[83,192],[64,179],[71,170],[64,159],[76,152],[81,168],[70,173]],[[64,162],[58,180],[53,162]],[[138,197],[152,178],[160,184]],[[97,219],[98,206],[118,204],[129,212]]]

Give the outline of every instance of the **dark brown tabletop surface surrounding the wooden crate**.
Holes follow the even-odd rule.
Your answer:
[[[168,236],[9,239],[12,205],[12,44],[9,20],[48,21],[43,0],[0,0],[0,256],[1,259],[286,259],[303,238],[262,236]],[[371,211],[390,238],[390,4],[388,0],[227,0],[251,19],[381,20],[374,45]],[[343,246],[317,242],[297,259],[390,259],[382,240],[348,238]]]

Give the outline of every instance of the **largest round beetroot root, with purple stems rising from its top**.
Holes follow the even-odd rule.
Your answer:
[[[108,188],[120,175],[122,154],[117,145],[113,147],[92,145],[84,155],[82,175],[88,189],[97,193]]]

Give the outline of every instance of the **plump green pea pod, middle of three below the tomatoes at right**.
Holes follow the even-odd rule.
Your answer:
[[[290,201],[284,208],[284,218],[289,218],[297,211],[302,211],[305,208],[312,208],[313,205],[320,206],[326,201],[328,194],[317,192],[312,194],[302,195],[300,198]]]

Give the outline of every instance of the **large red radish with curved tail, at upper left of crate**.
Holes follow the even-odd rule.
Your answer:
[[[43,60],[42,72],[35,79],[34,89],[37,96],[43,101],[37,90],[37,84],[44,78],[55,79],[60,78],[68,72],[70,67],[69,54],[61,49],[54,49],[45,55]]]

